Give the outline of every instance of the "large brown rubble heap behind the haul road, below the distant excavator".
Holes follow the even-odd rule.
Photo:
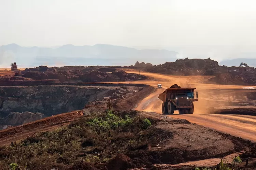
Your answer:
[[[256,69],[253,67],[227,67],[219,66],[217,61],[207,59],[179,59],[175,62],[166,62],[156,66],[146,66],[137,62],[136,67],[147,72],[172,75],[213,75],[209,83],[228,85],[255,85]],[[133,68],[134,66],[130,66]],[[136,68],[135,67],[135,68]]]

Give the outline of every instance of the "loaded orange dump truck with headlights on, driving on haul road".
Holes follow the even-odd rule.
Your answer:
[[[198,101],[198,93],[194,96],[196,88],[173,87],[159,94],[158,98],[163,101],[162,114],[173,114],[178,110],[180,114],[194,113],[194,102]]]

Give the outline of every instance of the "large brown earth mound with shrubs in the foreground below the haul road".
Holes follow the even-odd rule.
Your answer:
[[[79,113],[69,114],[69,116],[79,117]],[[17,131],[24,132],[29,128],[47,125],[50,127],[52,122],[66,120],[63,118],[64,115],[57,115],[36,121],[37,123],[16,127],[16,130],[10,128],[1,131],[0,137],[8,137],[15,133],[19,135]],[[115,123],[116,121],[121,124]],[[147,123],[146,128],[145,122],[150,122],[150,124]],[[104,126],[98,126],[99,123]],[[113,123],[116,125],[109,126],[114,125]],[[48,130],[53,129],[48,128]],[[26,138],[26,135],[23,137]],[[16,139],[20,139],[19,136]],[[21,167],[28,165],[26,168],[28,170],[39,167],[69,170],[83,168],[123,170],[154,167],[154,164],[179,164],[223,157],[247,149],[248,152],[245,152],[243,156],[253,156],[252,151],[254,151],[254,145],[250,141],[215,132],[186,120],[152,112],[134,111],[115,113],[101,111],[80,118],[57,131],[34,134],[17,144],[15,142],[15,145],[16,151],[19,152],[15,152],[15,147],[0,148],[0,155],[4,155],[0,156],[0,166],[5,169],[10,164],[5,159],[6,156],[13,159],[24,153],[28,153],[33,159],[24,157],[18,160],[18,165]],[[24,147],[24,145],[29,147]],[[39,147],[41,145],[47,146],[47,149]],[[48,164],[45,164],[46,161]]]

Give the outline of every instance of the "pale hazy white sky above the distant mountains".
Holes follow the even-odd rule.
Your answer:
[[[256,45],[256,1],[0,0],[0,45]]]

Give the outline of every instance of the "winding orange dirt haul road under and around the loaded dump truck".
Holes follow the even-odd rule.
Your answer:
[[[134,70],[125,70],[127,72],[139,73]],[[158,95],[165,91],[173,84],[178,84],[181,87],[196,87],[199,95],[199,101],[195,102],[195,112],[193,115],[179,115],[177,111],[170,117],[186,119],[192,123],[200,124],[217,131],[228,133],[234,136],[242,137],[256,141],[256,117],[248,115],[219,115],[209,114],[211,107],[221,106],[220,108],[232,108],[232,104],[236,99],[230,97],[229,92],[236,89],[243,89],[248,86],[232,86],[221,85],[220,89],[232,89],[228,94],[223,95],[223,92],[218,92],[219,85],[206,84],[205,82],[211,78],[210,76],[173,76],[157,73],[141,72],[141,74],[149,77],[142,81],[129,81],[126,83],[148,84],[157,88],[157,84],[162,84],[162,89],[156,89],[151,95],[142,100],[141,103],[134,109],[146,112],[161,113],[162,101],[158,99]],[[247,101],[244,99],[244,101]],[[244,102],[240,101],[240,102]],[[255,103],[255,102],[254,102]],[[236,107],[243,107],[236,106]]]

